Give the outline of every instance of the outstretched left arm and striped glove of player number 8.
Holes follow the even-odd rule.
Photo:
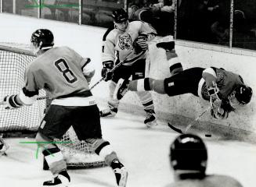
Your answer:
[[[13,94],[11,96],[7,95],[4,98],[6,104],[5,109],[21,108],[23,105],[34,104],[37,100],[38,90],[35,83],[34,73],[31,69],[27,69],[25,73],[25,86],[20,90],[20,94]]]

